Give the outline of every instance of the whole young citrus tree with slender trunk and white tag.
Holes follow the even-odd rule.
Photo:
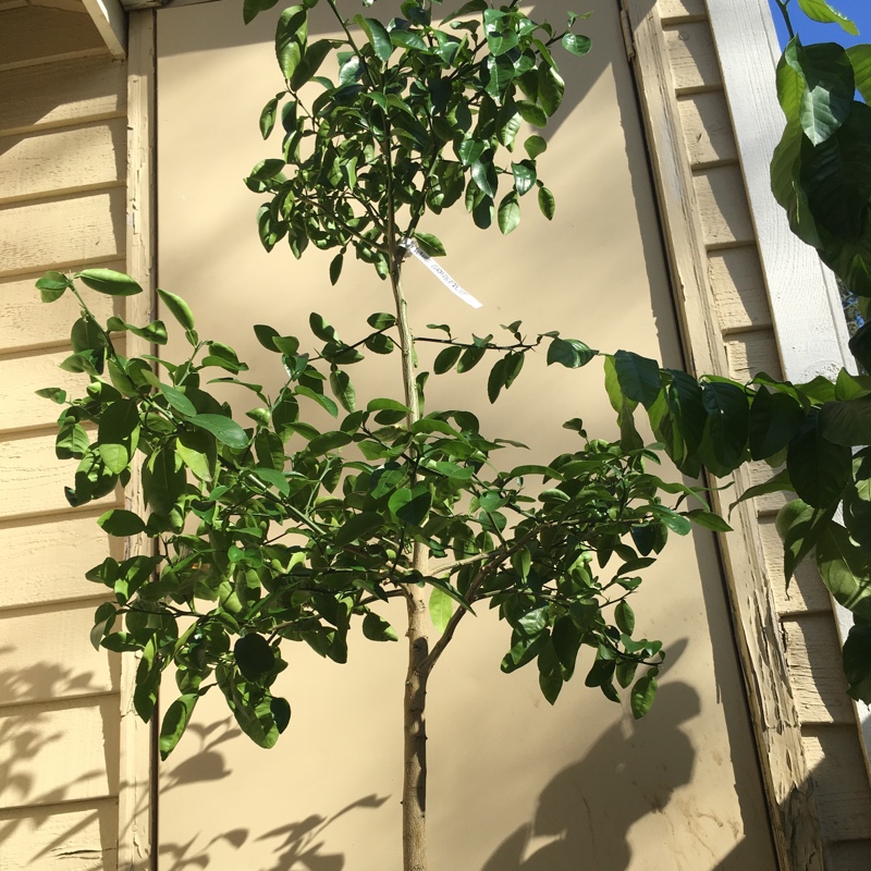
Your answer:
[[[402,841],[404,868],[418,871],[427,863],[427,684],[466,615],[496,611],[510,628],[503,671],[535,662],[550,702],[581,647],[591,648],[586,683],[614,701],[617,687],[630,688],[640,716],[662,657],[660,642],[634,637],[629,599],[639,573],[670,531],[689,531],[690,519],[726,527],[704,507],[665,504],[696,491],[651,475],[646,462],[655,457],[640,440],[589,440],[573,419],[565,425],[573,450],[506,468],[499,450],[513,442],[482,432],[469,412],[425,405],[430,372],[464,372],[488,359],[494,402],[532,348],[547,347],[548,364],[568,368],[597,354],[555,331],[527,338],[519,322],[504,328],[501,343],[456,336],[450,326],[414,336],[402,281],[408,255],[430,262],[443,253],[427,217],[459,200],[478,226],[495,223],[502,233],[517,226],[527,195],[553,217],[536,163],[544,139],[518,137],[524,121],[542,127],[560,107],[565,85],[552,50],[571,58],[589,48],[572,30],[577,17],[556,32],[516,3],[473,0],[436,26],[429,3],[408,0],[403,17],[384,24],[346,21],[324,1],[340,38],[309,40],[317,0],[279,20],[286,90],[267,103],[260,123],[269,136],[280,119],[281,158],[255,167],[247,184],[265,195],[258,223],[267,248],[286,240],[297,257],[308,245],[335,249],[333,282],[353,252],[372,265],[373,280],[384,280],[389,310],[347,338],[312,314],[314,341],[305,343],[255,327],[286,376],[267,395],[231,347],[198,334],[181,297],[159,291],[189,355],[127,358],[118,335],[163,344],[164,324],[98,322],[82,285],[122,296],[139,286],[102,269],[49,273],[39,282],[46,302],[72,293],[81,303],[63,367],[89,383],[79,398],[44,394],[65,406],[57,451],[78,463],[71,504],[132,475],[142,479],[143,515],[112,510],[99,523],[110,535],[147,536],[155,550],[107,559],[88,573],[112,596],[97,610],[91,640],[139,652],[134,702],[146,720],[174,666],[181,695],[163,715],[163,757],[216,687],[253,740],[274,745],[291,719],[289,701],[273,691],[286,667],[284,642],[342,663],[352,627],[375,641],[406,635]],[[247,2],[245,16],[272,4]],[[331,54],[335,81],[320,75]],[[352,375],[372,355],[394,356],[396,390],[361,398]],[[639,360],[623,353],[612,365],[631,379]],[[244,426],[212,395],[213,381],[248,391]],[[335,421],[327,428],[315,422],[324,412]],[[394,598],[406,605],[398,631],[381,611]]]

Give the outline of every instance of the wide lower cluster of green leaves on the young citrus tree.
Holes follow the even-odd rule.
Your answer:
[[[259,342],[286,375],[268,396],[243,380],[247,366],[233,348],[200,339],[188,306],[165,291],[160,295],[185,331],[189,356],[180,363],[123,356],[119,335],[130,331],[162,344],[165,328],[98,322],[76,280],[110,294],[139,289],[110,270],[40,280],[47,300],[72,293],[81,303],[74,353],[63,366],[88,377],[79,398],[59,389],[40,394],[63,405],[56,444],[59,457],[77,463],[66,490],[72,505],[138,476],[144,511],[112,508],[99,524],[113,536],[145,536],[155,551],[108,557],[88,572],[112,596],[96,612],[91,640],[142,653],[135,706],[146,720],[162,673],[174,665],[181,696],[163,719],[164,756],[197,700],[216,686],[241,728],[272,746],[290,720],[287,701],[273,692],[287,667],[282,642],[304,642],[341,663],[354,624],[369,639],[395,640],[379,610],[409,584],[429,588],[443,631],[425,667],[459,621],[486,603],[511,628],[503,671],[537,662],[549,701],[586,647],[592,657],[586,683],[613,700],[617,687],[631,687],[636,715],[648,710],[661,645],[634,637],[628,600],[670,532],[686,535],[690,519],[710,525],[715,517],[677,510],[698,491],[650,474],[650,451],[589,440],[574,419],[566,428],[576,433],[576,450],[547,465],[501,470],[498,452],[517,443],[486,437],[468,412],[410,419],[393,398],[357,400],[346,370],[366,353],[391,352],[392,315],[372,315],[371,332],[346,344],[312,314],[318,349],[309,353],[296,336],[258,326]],[[490,336],[451,344],[450,330],[438,341],[458,352],[457,368],[466,359],[465,370],[495,353],[503,389],[513,380],[505,372],[519,371],[505,360],[523,359],[537,344],[524,340],[519,323],[507,329],[511,346]],[[557,333],[538,342],[544,338],[549,363],[577,368],[594,355]],[[443,360],[437,370],[453,367]],[[421,398],[425,383],[421,373]],[[232,384],[249,397],[245,426],[212,384]],[[672,494],[678,506],[664,503]],[[414,568],[415,547],[432,560],[427,574]]]

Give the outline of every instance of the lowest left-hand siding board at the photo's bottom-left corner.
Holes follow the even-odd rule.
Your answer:
[[[118,799],[0,811],[0,871],[116,871]]]

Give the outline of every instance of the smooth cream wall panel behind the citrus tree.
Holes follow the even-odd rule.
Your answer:
[[[450,320],[478,334],[523,318],[530,331],[555,327],[598,347],[679,365],[616,9],[605,0],[588,5],[596,49],[564,61],[574,96],[540,164],[557,196],[554,223],[528,208],[503,240],[462,213],[433,222],[449,249],[443,265],[484,307],[465,308],[412,262],[413,317],[418,328]],[[555,2],[536,12],[563,14]],[[230,341],[255,361],[258,380],[275,384],[280,373],[259,368],[271,360],[257,351],[253,322],[302,334],[315,309],[353,334],[355,317],[389,307],[389,295],[368,270],[348,266],[332,290],[327,257],[307,253],[297,263],[281,247],[267,256],[256,240],[258,200],[240,180],[275,149],[257,133],[259,107],[281,86],[272,21],[263,16],[246,30],[234,4],[160,13],[159,270],[162,286],[194,304],[201,335]],[[483,373],[437,379],[429,403],[462,403],[481,414],[487,432],[553,455],[571,447],[560,428],[571,416],[614,436],[594,368],[545,373],[541,363],[529,364],[494,408]],[[366,385],[358,383],[358,394]],[[389,368],[368,385],[398,391]],[[551,709],[531,670],[500,674],[504,626],[487,614],[463,626],[429,696],[436,871],[560,871],[579,861],[597,869],[774,868],[712,538],[672,542],[637,611],[642,630],[671,651],[659,703],[640,723],[580,680]],[[209,696],[162,765],[161,871],[207,860],[221,871],[306,862],[398,868],[404,651],[355,639],[344,667],[302,648],[287,657],[281,689],[294,717],[278,748],[267,753],[240,738]]]

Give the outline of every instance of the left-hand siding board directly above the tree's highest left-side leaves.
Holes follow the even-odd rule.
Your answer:
[[[0,274],[121,257],[125,208],[120,187],[0,207]]]

